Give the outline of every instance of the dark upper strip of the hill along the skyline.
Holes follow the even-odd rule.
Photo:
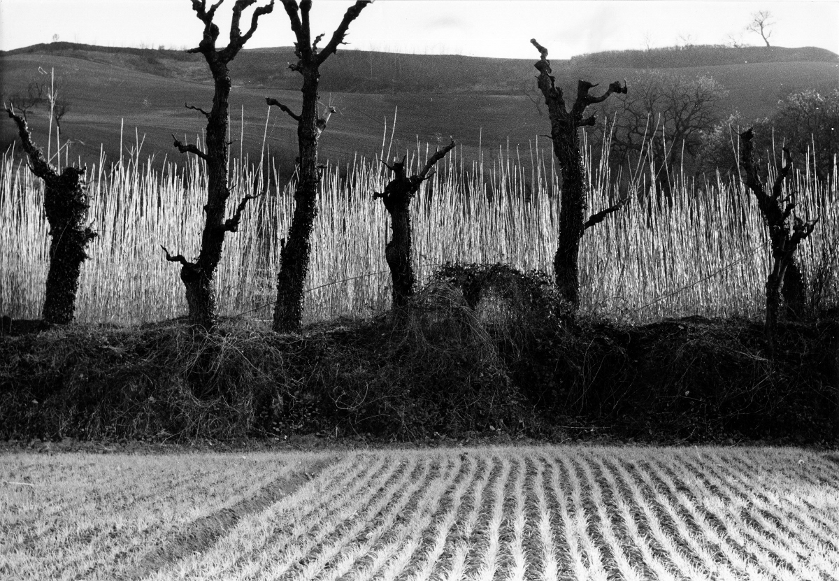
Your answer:
[[[209,83],[201,55],[172,49],[105,47],[55,42],[0,51],[0,60],[15,55],[55,55],[116,65],[168,79]],[[406,92],[479,92],[521,94],[533,76],[533,59],[498,59],[462,55],[413,55],[369,50],[339,50],[322,68],[320,88],[331,92],[396,94]],[[242,50],[231,69],[236,84],[298,90],[298,75],[285,63],[294,48],[279,46]],[[839,55],[816,47],[732,48],[722,45],[674,46],[651,50],[611,50],[552,59],[556,75],[586,76],[599,69],[696,68],[760,63],[839,63]],[[839,79],[839,76],[836,77]]]

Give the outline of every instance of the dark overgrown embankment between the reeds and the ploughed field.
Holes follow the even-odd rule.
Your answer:
[[[0,337],[0,437],[188,439],[435,432],[832,442],[837,319],[689,317],[630,327],[570,317],[544,275],[452,267],[393,317],[281,336],[226,322]],[[18,334],[20,329],[20,334]]]

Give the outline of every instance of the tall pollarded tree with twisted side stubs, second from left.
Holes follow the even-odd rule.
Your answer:
[[[206,128],[206,152],[201,151],[193,144],[183,144],[173,135],[175,147],[180,153],[195,154],[206,162],[207,169],[207,202],[204,206],[205,222],[204,230],[201,233],[201,251],[195,262],[190,262],[183,255],[173,256],[165,249],[166,259],[171,262],[179,262],[180,280],[183,280],[186,287],[186,302],[189,306],[190,324],[196,327],[203,327],[210,331],[216,326],[216,290],[213,280],[216,274],[216,266],[221,259],[221,247],[224,244],[225,234],[236,232],[239,222],[242,219],[242,211],[252,200],[251,195],[242,196],[233,216],[225,220],[225,207],[227,198],[230,197],[230,185],[227,176],[227,126],[228,126],[228,100],[230,97],[230,71],[228,66],[237,55],[242,46],[248,42],[257,29],[260,16],[268,14],[274,9],[274,0],[267,6],[261,6],[253,11],[251,26],[248,32],[242,34],[239,29],[239,22],[242,19],[242,11],[252,6],[257,0],[236,0],[233,5],[233,18],[230,24],[230,42],[221,50],[216,50],[216,39],[219,29],[213,23],[216,15],[216,8],[221,5],[219,2],[210,8],[206,6],[206,0],[192,0],[192,9],[204,23],[204,37],[198,48],[190,49],[187,52],[201,53],[204,55],[207,65],[210,66],[215,93],[213,94],[212,107],[209,112],[188,105],[187,108],[195,109],[203,113],[207,119]]]

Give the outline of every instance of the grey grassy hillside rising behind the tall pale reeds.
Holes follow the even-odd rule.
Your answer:
[[[0,55],[3,92],[13,94],[37,75],[38,67],[65,83],[72,110],[65,118],[65,138],[80,140],[71,149],[91,163],[104,144],[109,158],[119,149],[120,125],[133,141],[134,128],[146,135],[145,154],[162,158],[176,154],[170,133],[200,133],[202,118],[183,108],[184,102],[206,107],[209,75],[200,56],[171,50],[117,50],[60,43]],[[796,53],[790,53],[796,55]],[[823,55],[822,55],[823,56]],[[815,58],[810,56],[810,58]],[[263,97],[289,104],[299,101],[299,79],[285,63],[290,49],[245,50],[233,63],[232,133],[239,134],[241,107],[245,113],[243,150],[258,158],[265,123]],[[588,66],[585,60],[555,61],[555,73],[566,88],[576,78],[607,84],[631,77],[632,68]],[[731,94],[723,107],[747,117],[771,113],[779,97],[808,86],[826,87],[839,81],[839,64],[828,60],[703,65],[680,69],[687,74],[711,74]],[[451,135],[466,145],[474,159],[479,140],[484,147],[521,144],[545,133],[546,121],[523,94],[532,84],[531,60],[479,59],[456,55],[390,55],[344,50],[323,68],[321,95],[338,107],[323,139],[323,153],[341,163],[357,152],[378,155],[384,118],[399,107],[394,144],[403,149],[414,142],[446,143]],[[42,77],[45,78],[45,77]],[[445,91],[445,92],[444,92]],[[44,143],[45,115],[33,117],[35,139]],[[275,110],[268,127],[268,144],[285,168],[296,154],[291,119]],[[15,139],[11,123],[0,123],[0,147]],[[232,146],[238,154],[239,146]]]

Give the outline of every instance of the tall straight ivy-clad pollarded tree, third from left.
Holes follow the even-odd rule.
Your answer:
[[[297,189],[294,191],[294,215],[291,218],[288,240],[282,243],[279,253],[274,331],[298,332],[303,320],[303,291],[306,274],[309,271],[310,237],[317,216],[316,198],[320,183],[320,168],[317,161],[318,139],[320,139],[320,133],[326,129],[330,114],[333,113],[330,108],[324,117],[320,117],[318,111],[320,65],[323,65],[326,59],[336,52],[338,44],[344,42],[350,24],[358,18],[370,0],[357,0],[352,7],[347,9],[341,24],[332,33],[332,38],[322,50],[318,50],[317,44],[323,38],[323,34],[318,35],[314,40],[311,37],[309,25],[311,0],[302,0],[300,5],[294,0],[282,0],[282,3],[285,12],[289,15],[294,37],[297,39],[294,43],[294,55],[297,56],[297,62],[289,65],[289,68],[303,76],[303,86],[300,89],[303,93],[303,107],[300,114],[297,114],[276,99],[265,97],[268,105],[276,105],[297,122],[297,143],[300,151],[297,158],[298,182]]]

